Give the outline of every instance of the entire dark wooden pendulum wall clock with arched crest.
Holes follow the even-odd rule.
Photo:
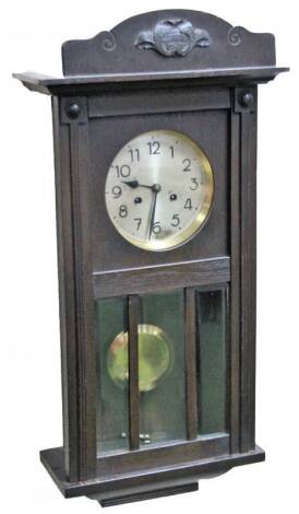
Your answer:
[[[258,84],[274,37],[195,11],[62,46],[52,97],[63,445],[40,458],[101,505],[258,463]],[[216,487],[216,486],[215,486]]]

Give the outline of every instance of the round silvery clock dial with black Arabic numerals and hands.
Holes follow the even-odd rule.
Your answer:
[[[207,157],[189,137],[172,130],[145,132],[125,144],[105,187],[117,231],[147,250],[189,241],[206,220],[213,192]]]

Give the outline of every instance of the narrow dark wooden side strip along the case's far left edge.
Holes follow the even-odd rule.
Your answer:
[[[75,328],[74,255],[72,234],[70,133],[59,124],[59,102],[52,98],[56,171],[57,246],[59,272],[59,314],[61,341],[64,469],[70,482],[80,477],[79,463],[79,384]]]

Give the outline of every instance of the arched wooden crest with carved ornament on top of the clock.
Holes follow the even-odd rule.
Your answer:
[[[183,28],[180,28],[180,21]],[[205,34],[204,46],[194,46],[199,32]],[[144,40],[147,40],[146,45],[142,45]],[[182,46],[184,55],[179,55]],[[124,20],[111,32],[62,45],[63,74],[67,77],[205,70],[211,69],[212,63],[214,69],[275,66],[274,36],[232,27],[208,13],[176,9],[139,14]]]

